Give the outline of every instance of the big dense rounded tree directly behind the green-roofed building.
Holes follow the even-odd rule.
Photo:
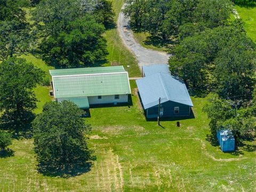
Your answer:
[[[93,7],[89,9],[87,3]],[[104,25],[109,25],[113,15],[111,4],[104,0],[42,0],[33,19],[43,59],[61,67],[81,67],[105,59]]]

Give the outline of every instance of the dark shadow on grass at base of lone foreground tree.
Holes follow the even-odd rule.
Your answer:
[[[55,170],[47,166],[38,165],[38,172],[49,177],[70,178],[91,171],[92,162],[86,162],[84,165],[75,165],[74,167],[66,170]]]

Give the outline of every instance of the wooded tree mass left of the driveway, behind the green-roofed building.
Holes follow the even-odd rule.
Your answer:
[[[0,4],[2,61],[30,52],[49,65],[83,67],[108,54],[103,33],[114,26],[114,11],[107,0],[1,0]]]

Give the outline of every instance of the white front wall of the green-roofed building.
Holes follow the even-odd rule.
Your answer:
[[[101,99],[98,99],[98,96],[88,97],[88,101],[90,105],[95,104],[104,104],[104,103],[114,103],[114,102],[128,102],[128,95],[121,94],[119,95],[119,99],[115,99],[115,95],[102,95]]]

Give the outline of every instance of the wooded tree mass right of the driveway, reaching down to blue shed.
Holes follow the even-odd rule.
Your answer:
[[[132,29],[175,40],[172,75],[211,92],[204,110],[212,133],[230,129],[238,139],[255,134],[256,46],[233,9],[229,0],[126,0],[124,13]]]

